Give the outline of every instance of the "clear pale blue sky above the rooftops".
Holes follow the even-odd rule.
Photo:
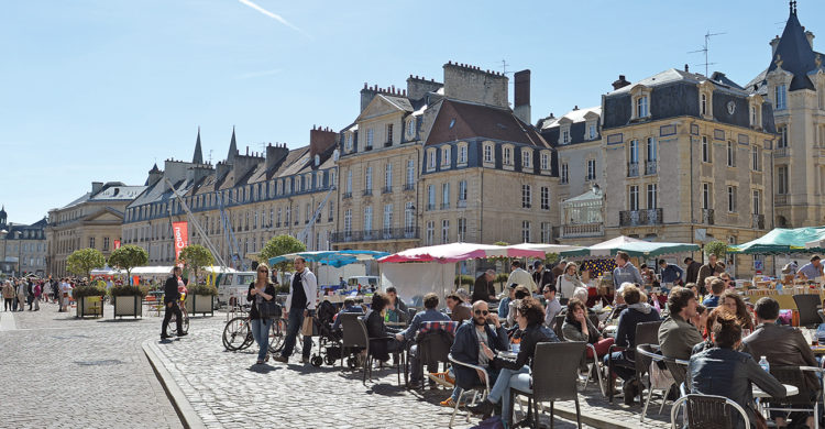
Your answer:
[[[825,2],[798,8],[825,37]],[[448,61],[529,68],[534,123],[598,106],[618,75],[704,73],[691,52],[708,31],[724,33],[711,73],[744,85],[788,13],[783,0],[2,0],[0,205],[31,223],[91,182],[143,185],[155,162],[191,160],[198,127],[212,163],[232,127],[241,152],[300,147],[314,125],[353,122],[364,82],[442,81]]]

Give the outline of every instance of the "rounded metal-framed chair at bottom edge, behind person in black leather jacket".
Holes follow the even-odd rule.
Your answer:
[[[670,409],[671,429],[679,428],[676,415],[682,406],[684,406],[683,420],[688,420],[688,425],[683,425],[682,428],[734,429],[736,426],[732,420],[732,411],[739,414],[739,417],[745,421],[745,428],[750,428],[748,414],[739,404],[724,396],[691,394],[682,396],[673,403],[673,408]]]

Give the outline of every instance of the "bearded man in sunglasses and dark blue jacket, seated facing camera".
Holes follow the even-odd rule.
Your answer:
[[[490,384],[495,382],[498,371],[490,366],[491,359],[481,352],[480,343],[484,343],[493,350],[509,350],[507,342],[507,330],[498,320],[498,315],[490,311],[486,301],[473,304],[473,318],[465,320],[455,330],[455,342],[450,348],[453,359],[471,365],[482,366],[490,374]],[[455,372],[455,389],[450,399],[442,404],[448,405],[459,399],[459,387],[469,389],[479,384],[484,384],[484,373],[462,365],[453,365]]]

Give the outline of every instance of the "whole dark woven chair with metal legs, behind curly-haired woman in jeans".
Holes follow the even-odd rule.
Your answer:
[[[550,402],[550,428],[553,427],[553,404],[557,400],[575,402],[575,419],[579,428],[582,427],[581,411],[579,408],[578,389],[578,358],[584,353],[585,342],[541,342],[536,344],[536,356],[534,362],[552,362],[552,364],[539,364],[532,367],[532,392],[519,391],[510,387],[510,404],[515,404],[516,395],[528,397],[528,415],[531,409],[534,414],[534,427],[539,427],[540,403]],[[507,416],[513,421],[513,409]]]

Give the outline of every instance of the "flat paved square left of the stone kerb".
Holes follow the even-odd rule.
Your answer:
[[[111,306],[105,311],[87,320],[52,304],[0,312],[0,427],[183,427],[141,348],[160,337],[161,319],[113,321]]]

